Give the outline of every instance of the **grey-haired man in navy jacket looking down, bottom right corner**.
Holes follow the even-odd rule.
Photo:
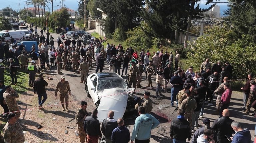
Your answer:
[[[231,143],[250,143],[251,133],[248,129],[242,129],[238,121],[233,121],[231,127],[236,132]]]

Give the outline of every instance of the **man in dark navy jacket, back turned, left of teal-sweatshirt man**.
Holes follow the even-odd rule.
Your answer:
[[[124,120],[119,118],[117,120],[118,127],[116,127],[111,135],[112,143],[128,143],[130,141],[130,132],[124,126]]]

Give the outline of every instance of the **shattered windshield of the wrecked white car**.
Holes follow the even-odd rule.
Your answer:
[[[111,89],[111,88],[128,88],[124,80],[119,79],[119,78],[104,78],[100,79],[98,81],[98,91],[102,91],[104,89]]]

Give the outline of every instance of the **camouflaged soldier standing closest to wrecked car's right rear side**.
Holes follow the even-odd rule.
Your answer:
[[[138,68],[135,66],[135,62],[132,61],[131,62],[132,66],[130,68],[130,71],[129,71],[129,83],[128,83],[128,86],[129,88],[132,87],[132,84],[133,84],[133,88],[136,88],[136,82],[137,82],[137,76],[139,76],[139,70]]]

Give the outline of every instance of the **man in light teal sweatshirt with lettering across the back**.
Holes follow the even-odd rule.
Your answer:
[[[132,131],[131,143],[134,139],[136,143],[149,143],[151,137],[151,130],[156,128],[160,123],[149,113],[145,114],[145,108],[140,106],[138,108],[139,115],[136,120]]]

